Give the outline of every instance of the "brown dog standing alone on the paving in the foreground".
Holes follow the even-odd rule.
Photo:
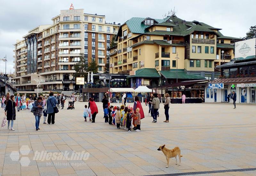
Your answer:
[[[168,148],[165,148],[165,145],[163,146],[160,146],[159,148],[157,148],[157,150],[162,150],[162,152],[164,153],[164,156],[166,157],[166,160],[167,160],[167,167],[169,167],[169,160],[170,158],[173,158],[175,157],[176,159],[176,164],[177,164],[177,155],[179,156],[179,159],[180,157],[182,157],[182,155],[180,155],[180,148],[179,147],[175,147],[173,149],[168,149]],[[180,166],[180,164],[179,164]]]

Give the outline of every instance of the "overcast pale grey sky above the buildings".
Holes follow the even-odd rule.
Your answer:
[[[131,17],[163,18],[175,7],[181,19],[204,22],[225,36],[244,37],[250,26],[256,25],[256,1],[253,0],[9,0],[1,2],[0,58],[7,55],[7,72],[14,63],[13,44],[22,39],[30,29],[42,24],[52,24],[52,17],[60,10],[84,9],[84,13],[103,14],[107,22],[124,23]],[[4,62],[0,63],[4,71]]]

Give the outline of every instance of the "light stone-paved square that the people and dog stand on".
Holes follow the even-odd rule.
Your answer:
[[[154,124],[143,105],[146,118],[141,120],[141,131],[127,132],[104,123],[101,103],[96,123],[84,122],[84,104],[88,103],[60,110],[54,125],[43,124],[41,117],[39,131],[32,113],[17,112],[15,131],[7,126],[0,130],[0,175],[130,176],[256,168],[255,105],[232,109],[231,103],[172,104],[170,123],[163,123],[161,104]],[[163,144],[180,147],[181,166],[172,159],[165,168],[166,159],[156,150]],[[80,160],[83,152],[90,155]],[[256,175],[256,171],[202,175]]]

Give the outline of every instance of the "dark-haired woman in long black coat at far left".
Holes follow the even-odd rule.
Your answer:
[[[11,131],[15,131],[13,129],[13,120],[16,119],[16,103],[15,103],[15,97],[14,95],[11,96],[11,98],[7,101],[7,104],[6,104],[6,107],[5,107],[5,115],[7,117],[7,120],[8,120],[8,130],[11,130]],[[12,121],[11,123],[11,128],[10,128],[10,122]]]

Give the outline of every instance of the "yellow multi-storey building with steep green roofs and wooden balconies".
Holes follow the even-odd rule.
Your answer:
[[[176,15],[133,17],[121,25],[117,46],[109,49],[110,73],[130,73],[128,77],[136,78],[132,87],[175,83],[176,78],[213,80],[220,76],[215,66],[234,58],[234,42],[239,40],[223,36],[220,28]]]

